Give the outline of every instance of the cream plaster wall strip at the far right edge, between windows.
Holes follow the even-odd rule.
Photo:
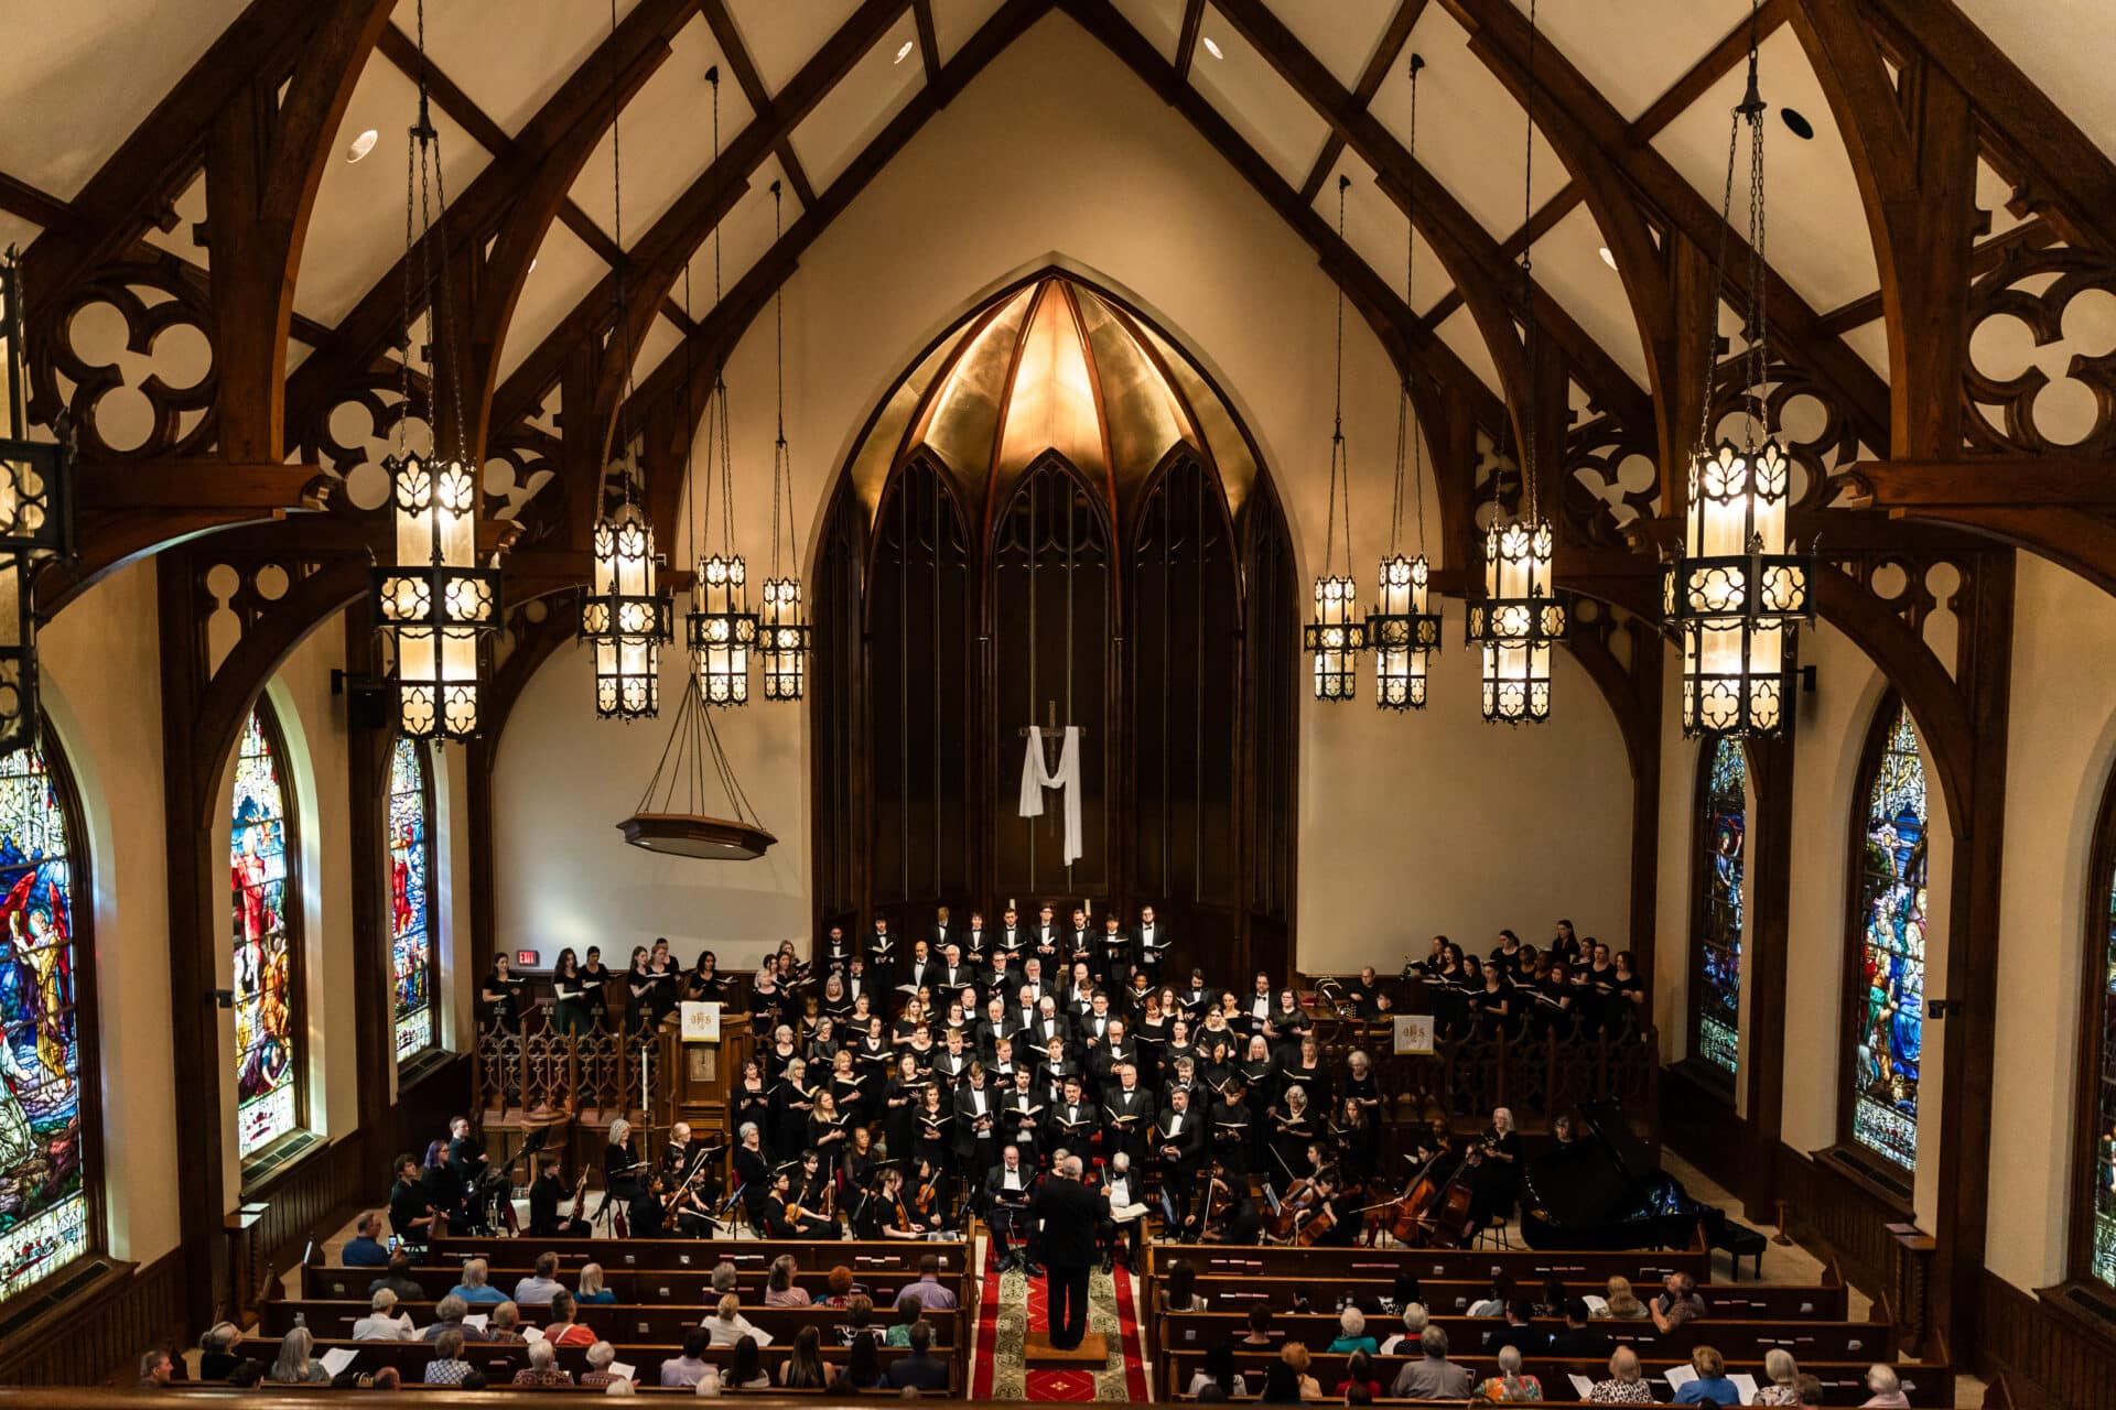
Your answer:
[[[1987,1266],[2021,1290],[2065,1277],[2078,1101],[2080,975],[2088,917],[2108,898],[2088,877],[2097,810],[2116,761],[2116,695],[2080,691],[2082,662],[2116,660],[2116,600],[2019,554],[2012,719],[2006,738],[2006,856],[2000,888],[1998,1065],[1991,1110]],[[2093,670],[2093,668],[2091,668]],[[2021,977],[2040,975],[2036,983]]]

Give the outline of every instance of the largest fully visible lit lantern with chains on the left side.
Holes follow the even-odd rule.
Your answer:
[[[404,182],[404,345],[389,512],[396,567],[375,569],[375,621],[396,655],[398,731],[413,740],[470,740],[482,719],[478,687],[485,645],[499,630],[499,571],[478,567],[478,476],[463,459],[461,361],[449,296],[446,214],[440,133],[427,106],[425,4],[419,4],[419,120],[411,129]],[[413,239],[413,224],[419,239]],[[417,258],[415,258],[417,256]],[[438,271],[434,268],[438,264]],[[417,287],[415,281],[417,279]],[[408,446],[413,309],[427,311],[427,452]],[[449,376],[442,408],[436,378]]]

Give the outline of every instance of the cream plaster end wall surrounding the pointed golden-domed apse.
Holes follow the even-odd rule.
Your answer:
[[[1246,182],[1062,15],[927,123],[787,285],[787,425],[806,541],[868,412],[920,347],[984,292],[1054,258],[1126,292],[1212,370],[1272,467],[1301,579],[1312,577],[1327,520],[1335,290]],[[753,577],[770,509],[770,330],[760,319],[728,368],[738,535]],[[1397,374],[1354,313],[1346,435],[1363,579],[1386,548],[1378,522],[1394,412]],[[671,550],[679,562],[690,556],[686,541]],[[1583,932],[1625,932],[1629,789],[1606,706],[1562,657],[1557,723],[1485,727],[1458,621],[1424,717],[1303,706],[1303,968],[1422,947],[1433,930],[1540,934],[1557,915]],[[675,657],[669,666],[675,681]],[[806,932],[806,717],[751,704],[722,723],[781,846],[741,867],[633,854],[609,829],[645,789],[667,723],[595,723],[584,657],[561,649],[544,666],[495,767],[501,945],[548,956],[603,941],[622,962],[637,939],[669,934],[686,958],[713,943],[734,962]],[[554,761],[565,761],[563,784]],[[1422,799],[1439,805],[1430,820],[1420,820]],[[1517,843],[1534,867],[1502,860]]]

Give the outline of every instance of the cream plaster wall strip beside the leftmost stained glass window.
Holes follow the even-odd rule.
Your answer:
[[[176,1084],[169,1076],[169,867],[161,782],[154,564],[112,573],[38,632],[44,712],[87,814],[95,1032],[110,1251],[176,1247]],[[112,689],[125,681],[125,689]]]

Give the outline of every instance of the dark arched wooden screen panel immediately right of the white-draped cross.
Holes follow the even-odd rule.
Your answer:
[[[1189,452],[1147,495],[1126,548],[1132,892],[1234,909],[1240,583],[1219,488]]]

